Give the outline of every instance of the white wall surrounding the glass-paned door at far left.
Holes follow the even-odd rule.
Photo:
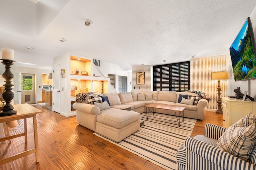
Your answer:
[[[0,64],[0,75],[2,75],[5,71],[4,65]],[[28,67],[16,67],[15,63],[11,67],[12,74],[14,75],[14,79],[12,84],[14,85],[14,104],[18,104],[19,98],[18,98],[18,92],[19,91],[19,81],[20,81],[20,72],[21,73],[29,73],[29,74],[35,74],[36,81],[35,81],[35,89],[36,89],[36,103],[38,101],[42,101],[42,74],[48,74],[52,70],[49,69],[35,69],[35,68],[28,68]],[[41,86],[39,88],[39,86]]]

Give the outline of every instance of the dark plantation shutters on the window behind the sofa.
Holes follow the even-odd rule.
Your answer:
[[[190,62],[153,66],[153,90],[190,90]]]

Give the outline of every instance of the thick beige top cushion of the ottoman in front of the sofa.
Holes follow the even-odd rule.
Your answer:
[[[140,113],[120,109],[106,109],[97,116],[97,122],[114,128],[123,128],[140,119]]]

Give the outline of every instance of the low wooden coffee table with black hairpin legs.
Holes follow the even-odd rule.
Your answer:
[[[148,120],[148,115],[149,115],[149,111],[150,108],[152,108],[152,112],[153,112],[153,116],[155,115],[155,111],[156,109],[165,109],[165,110],[170,110],[170,111],[174,111],[175,112],[175,116],[178,122],[178,125],[180,127],[180,117],[182,119],[182,122],[184,122],[184,109],[186,109],[186,107],[183,106],[173,106],[173,105],[165,105],[162,103],[151,103],[149,105],[145,105],[146,107],[146,115],[147,115],[147,120]],[[176,111],[179,112],[179,120],[176,114]]]

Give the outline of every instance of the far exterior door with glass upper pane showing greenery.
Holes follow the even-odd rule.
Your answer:
[[[21,103],[35,103],[35,75],[22,73]]]

